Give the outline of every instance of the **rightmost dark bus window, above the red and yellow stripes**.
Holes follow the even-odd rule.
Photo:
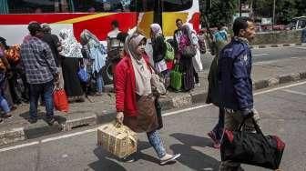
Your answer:
[[[192,6],[192,0],[162,0],[163,11],[175,12],[188,10]]]

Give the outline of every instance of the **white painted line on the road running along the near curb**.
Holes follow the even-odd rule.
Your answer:
[[[285,89],[285,88],[289,88],[289,87],[297,86],[297,85],[304,85],[304,84],[306,84],[306,81],[301,82],[301,83],[292,84],[292,85],[280,86],[280,87],[277,87],[277,88],[272,88],[270,90],[255,93],[254,96],[267,94],[267,93],[270,93],[270,92],[273,92],[273,91],[277,91],[277,90],[281,90],[281,89]],[[212,104],[194,106],[194,107],[189,107],[189,108],[181,109],[181,110],[174,111],[174,112],[168,112],[168,113],[163,114],[162,116],[172,116],[172,115],[175,115],[175,114],[179,114],[179,113],[183,113],[183,112],[189,112],[191,110],[195,110],[195,109],[199,109],[199,108],[203,108],[203,107],[208,107],[208,106],[212,106]],[[38,145],[38,144],[42,144],[42,143],[46,143],[46,142],[50,142],[50,141],[56,141],[58,139],[63,139],[63,138],[66,138],[66,137],[80,136],[80,135],[84,135],[84,134],[87,134],[87,133],[92,133],[92,132],[95,132],[95,131],[97,131],[97,128],[88,129],[88,130],[85,130],[85,131],[80,131],[80,132],[76,132],[76,133],[72,133],[72,134],[68,134],[68,135],[63,135],[63,136],[50,137],[50,138],[43,139],[40,142],[35,141],[35,142],[26,143],[26,144],[17,145],[17,146],[9,146],[9,147],[5,147],[5,148],[0,148],[0,153],[5,152],[5,151],[9,151],[9,150],[13,150],[13,149],[17,149],[17,148],[26,147],[26,146],[34,146],[34,145]]]

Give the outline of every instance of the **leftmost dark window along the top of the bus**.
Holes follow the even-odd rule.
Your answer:
[[[2,1],[2,3],[4,2]],[[40,14],[69,11],[67,0],[9,0],[6,5],[8,9],[5,14]]]

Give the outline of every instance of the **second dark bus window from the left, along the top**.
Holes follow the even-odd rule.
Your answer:
[[[74,12],[128,12],[130,0],[72,0]]]

